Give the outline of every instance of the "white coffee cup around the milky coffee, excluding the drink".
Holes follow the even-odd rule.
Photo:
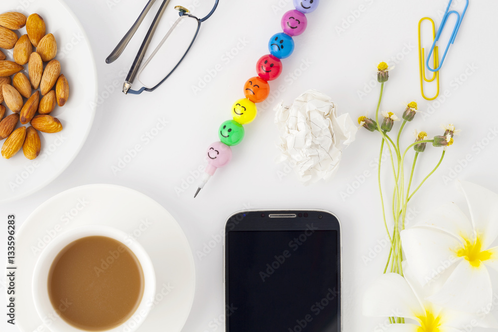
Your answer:
[[[102,225],[87,225],[71,229],[55,237],[40,253],[33,273],[33,301],[36,311],[45,326],[52,332],[82,332],[66,323],[59,315],[59,311],[52,306],[48,294],[48,275],[52,262],[59,252],[71,242],[87,236],[107,236],[122,242],[136,256],[140,263],[144,277],[143,296],[133,315],[122,325],[107,332],[134,332],[145,321],[150,312],[155,296],[156,278],[152,261],[145,249],[136,240],[127,240],[126,233],[113,227]],[[84,330],[83,330],[84,331]]]

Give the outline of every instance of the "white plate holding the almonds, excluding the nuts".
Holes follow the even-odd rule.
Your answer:
[[[40,190],[69,166],[90,132],[97,97],[97,69],[90,43],[66,4],[59,0],[1,0],[0,12],[6,11],[19,11],[26,16],[38,13],[43,17],[47,33],[53,33],[57,40],[56,59],[69,82],[69,100],[62,108],[56,106],[51,114],[62,122],[64,129],[55,134],[40,133],[41,152],[35,160],[26,159],[22,151],[9,160],[0,157],[0,203]],[[25,33],[26,28],[22,28],[18,35]],[[6,51],[6,55],[12,60],[12,50]],[[27,65],[24,68],[27,74]],[[8,114],[11,112],[7,111],[5,116]]]

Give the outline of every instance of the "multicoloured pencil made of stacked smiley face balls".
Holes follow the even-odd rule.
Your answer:
[[[244,139],[244,124],[254,120],[256,104],[263,102],[270,94],[268,81],[275,80],[282,73],[281,59],[288,58],[294,51],[294,39],[306,30],[308,19],[305,14],[318,7],[319,0],[294,0],[296,9],[284,13],[281,20],[283,32],[271,36],[268,42],[270,54],[263,55],[256,63],[257,76],[251,77],[244,85],[246,98],[239,99],[232,106],[233,119],[223,122],[218,128],[220,141],[208,147],[208,166],[194,198],[197,197],[215,171],[232,160],[232,148]]]

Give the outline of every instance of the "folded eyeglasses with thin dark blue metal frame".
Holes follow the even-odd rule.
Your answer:
[[[116,46],[114,51],[106,59],[106,63],[112,63],[120,57],[150,7],[152,7],[154,1],[155,0],[149,0],[147,2],[135,23],[131,26],[128,32],[126,32],[118,46]],[[152,24],[149,27],[149,30],[147,31],[147,34],[145,35],[145,38],[143,39],[140,49],[136,54],[135,60],[133,61],[133,64],[128,72],[128,76],[126,76],[126,80],[123,84],[123,93],[125,95],[128,93],[132,95],[139,95],[143,91],[152,92],[164,83],[164,81],[171,76],[171,74],[183,61],[192,47],[197,34],[199,33],[201,23],[211,17],[219,2],[219,0],[215,0],[213,9],[211,9],[211,11],[202,18],[197,18],[192,15],[190,10],[185,7],[175,6],[175,9],[179,11],[180,17],[178,17],[178,19],[173,23],[164,38],[140,67],[152,36],[154,35],[157,25],[159,24],[159,20],[169,1],[170,0],[163,0],[154,17],[154,20],[152,21]],[[138,79],[143,87],[138,90],[131,90],[131,86],[135,81],[135,78]]]

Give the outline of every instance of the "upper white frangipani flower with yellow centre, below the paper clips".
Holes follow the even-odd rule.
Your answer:
[[[401,232],[405,257],[421,285],[442,288],[429,300],[457,311],[483,312],[492,303],[488,268],[498,271],[498,195],[478,185],[460,184],[471,220],[454,204]]]

